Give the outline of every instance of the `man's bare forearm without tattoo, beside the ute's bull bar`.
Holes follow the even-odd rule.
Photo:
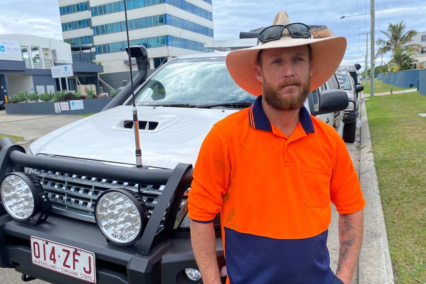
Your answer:
[[[191,243],[204,284],[221,284],[216,259],[216,237],[212,223],[190,221]]]

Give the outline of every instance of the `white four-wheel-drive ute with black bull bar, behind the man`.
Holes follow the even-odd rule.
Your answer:
[[[119,106],[33,142],[32,155],[0,140],[0,267],[54,284],[202,283],[186,217],[192,164],[212,125],[255,100],[232,81],[225,56],[179,57],[135,85],[143,167],[134,166],[128,88]],[[348,99],[331,87],[305,107],[333,125]]]

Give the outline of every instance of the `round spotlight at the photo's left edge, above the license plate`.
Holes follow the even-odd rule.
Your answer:
[[[40,181],[27,173],[8,173],[1,180],[1,203],[17,221],[28,221],[40,211],[39,194],[43,192]]]

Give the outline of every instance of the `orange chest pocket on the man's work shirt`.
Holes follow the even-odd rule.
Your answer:
[[[303,202],[307,207],[325,207],[330,203],[332,169],[301,166]]]

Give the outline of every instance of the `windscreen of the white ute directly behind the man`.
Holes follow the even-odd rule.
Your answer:
[[[205,105],[251,102],[229,75],[225,57],[177,59],[154,74],[135,97],[136,105]]]

